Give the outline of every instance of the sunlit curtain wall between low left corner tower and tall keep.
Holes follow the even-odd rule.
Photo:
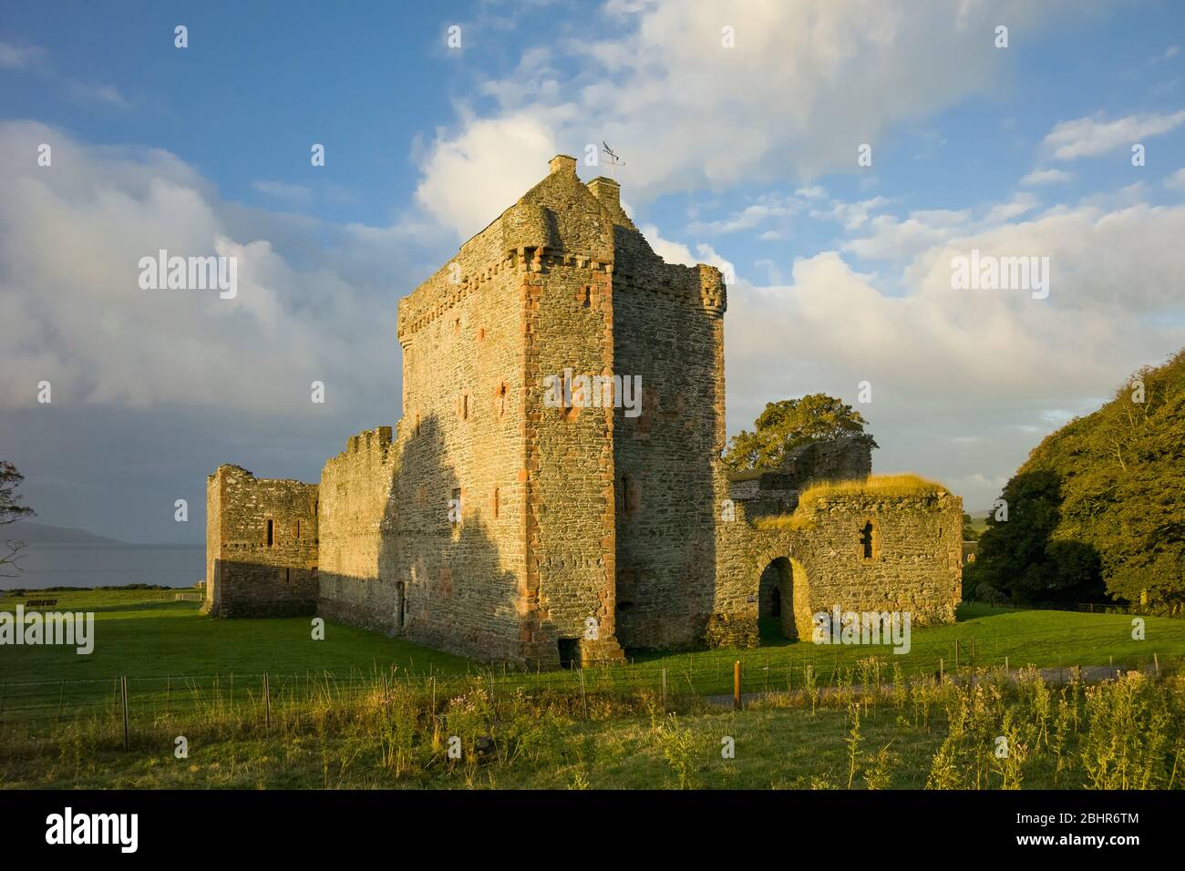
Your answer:
[[[403,628],[397,582],[398,454],[391,428],[351,436],[321,469],[318,613],[387,633]]]

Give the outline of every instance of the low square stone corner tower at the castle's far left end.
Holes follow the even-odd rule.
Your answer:
[[[318,487],[219,466],[206,480],[211,614],[312,614],[318,598]],[[270,524],[270,543],[269,538]]]

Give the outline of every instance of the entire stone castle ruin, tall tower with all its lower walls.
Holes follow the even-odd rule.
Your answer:
[[[352,436],[319,483],[210,476],[207,609],[544,668],[751,646],[758,615],[793,636],[834,604],[953,620],[956,497],[800,505],[809,481],[870,474],[859,440],[729,480],[725,302],[719,270],[654,254],[616,181],[556,156],[399,301],[393,430]]]

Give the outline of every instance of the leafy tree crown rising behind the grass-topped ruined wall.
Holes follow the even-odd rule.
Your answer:
[[[826,393],[811,393],[801,399],[767,403],[766,410],[754,422],[754,431],[741,430],[732,437],[724,453],[724,463],[731,472],[776,469],[788,451],[814,441],[857,436],[877,447],[867,421],[851,405]]]

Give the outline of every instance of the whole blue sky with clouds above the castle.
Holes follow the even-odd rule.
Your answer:
[[[145,543],[219,463],[316,481],[399,417],[398,299],[565,153],[724,270],[730,434],[832,393],[986,508],[1185,345],[1183,77],[1168,0],[6,4],[0,459]],[[143,289],[160,249],[237,294]]]

